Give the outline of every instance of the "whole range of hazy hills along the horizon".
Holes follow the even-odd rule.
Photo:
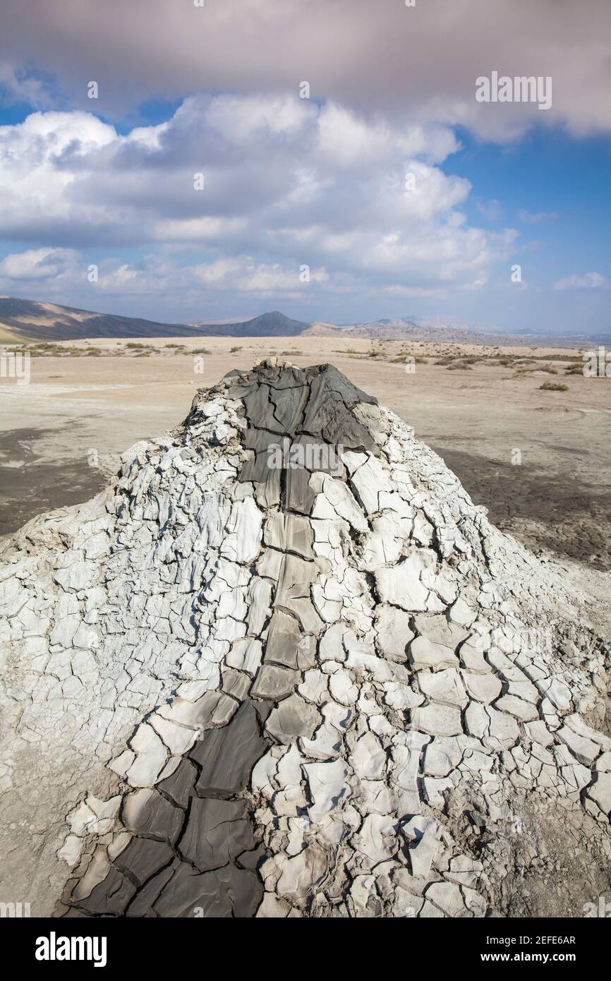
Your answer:
[[[163,324],[139,317],[94,313],[76,307],[43,303],[38,300],[0,296],[0,339],[13,341],[75,340],[95,337],[293,337],[342,336],[371,339],[436,340],[448,343],[550,343],[580,345],[586,341],[609,342],[608,334],[537,335],[517,330],[515,334],[474,331],[459,323],[416,321],[411,318],[382,319],[362,324],[333,324],[330,321],[292,320],[278,310],[250,320],[224,323],[199,321],[192,324]]]

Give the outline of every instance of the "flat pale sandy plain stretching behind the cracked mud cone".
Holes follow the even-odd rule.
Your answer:
[[[554,360],[557,375],[479,363],[448,371],[433,363],[447,354],[568,359],[577,350],[313,336],[137,343],[153,353],[138,357],[139,348],[117,340],[74,341],[100,356],[35,356],[29,385],[0,380],[0,534],[99,490],[128,445],[184,418],[197,387],[286,352],[301,366],[331,362],[414,426],[503,530],[535,550],[611,568],[611,379],[565,377]],[[192,353],[201,347],[210,352],[197,363],[202,374]],[[385,353],[373,358],[372,350]],[[403,362],[391,363],[400,352],[431,360],[408,373]],[[544,381],[569,390],[541,391]],[[515,450],[520,465],[512,464]]]

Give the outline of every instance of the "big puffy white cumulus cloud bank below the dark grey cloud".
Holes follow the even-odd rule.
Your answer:
[[[70,250],[138,246],[157,250],[164,288],[293,295],[304,265],[329,290],[482,284],[517,232],[467,224],[470,182],[440,166],[457,148],[438,124],[286,95],[192,96],[126,134],[91,113],[34,113],[0,128],[0,224],[30,246],[0,275],[38,280]],[[201,256],[186,281],[171,246]],[[101,263],[100,284],[148,288],[149,266],[115,263],[104,279]]]

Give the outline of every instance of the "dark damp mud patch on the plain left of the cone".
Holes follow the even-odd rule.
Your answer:
[[[72,424],[71,424],[72,428]],[[108,483],[82,457],[50,460],[41,444],[57,431],[15,429],[0,433],[0,536],[56,507],[80,504]]]

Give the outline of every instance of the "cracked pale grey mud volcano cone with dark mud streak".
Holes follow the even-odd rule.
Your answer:
[[[546,916],[608,888],[590,600],[330,365],[200,390],[3,562],[0,899]]]

